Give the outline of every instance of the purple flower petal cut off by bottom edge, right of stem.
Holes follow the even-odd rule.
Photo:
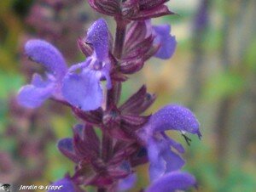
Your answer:
[[[169,172],[149,185],[146,192],[175,192],[195,186],[195,178],[187,172]]]

